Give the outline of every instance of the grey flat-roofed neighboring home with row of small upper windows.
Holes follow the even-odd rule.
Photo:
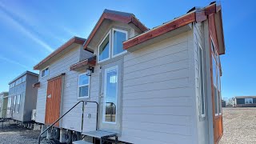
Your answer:
[[[37,88],[32,85],[38,82],[38,74],[26,71],[9,82],[7,118],[18,122],[31,121],[32,110],[36,108]]]

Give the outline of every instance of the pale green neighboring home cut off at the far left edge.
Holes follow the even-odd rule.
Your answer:
[[[6,118],[8,92],[0,93],[0,118]]]

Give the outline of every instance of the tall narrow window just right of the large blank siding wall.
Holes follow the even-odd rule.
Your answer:
[[[198,45],[198,60],[199,60],[199,94],[201,98],[201,115],[206,116],[206,106],[205,106],[205,90],[204,90],[204,61],[203,61],[202,47]]]

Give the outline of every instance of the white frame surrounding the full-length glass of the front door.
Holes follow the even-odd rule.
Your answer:
[[[116,91],[116,99],[115,99],[115,102],[117,104],[117,106],[115,107],[115,122],[106,122],[106,119],[105,119],[105,114],[106,114],[106,74],[108,71],[110,70],[117,70],[117,91]],[[118,66],[112,66],[110,68],[107,68],[105,70],[105,76],[104,76],[104,104],[103,104],[103,114],[102,114],[102,123],[108,123],[108,124],[117,124],[118,122]]]

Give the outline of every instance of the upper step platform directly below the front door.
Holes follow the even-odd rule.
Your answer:
[[[103,131],[103,130],[94,130],[89,132],[83,132],[82,135],[87,135],[94,138],[111,138],[111,137],[115,137],[117,133]]]

